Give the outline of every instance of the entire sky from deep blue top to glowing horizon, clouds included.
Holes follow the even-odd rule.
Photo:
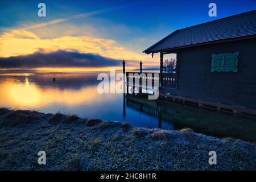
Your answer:
[[[38,4],[46,4],[46,17]],[[208,15],[209,3],[217,17]],[[146,55],[171,32],[256,9],[256,1],[5,1],[0,2],[0,70],[108,71],[158,68]]]

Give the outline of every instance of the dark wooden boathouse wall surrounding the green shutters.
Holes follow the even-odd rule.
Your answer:
[[[212,53],[236,51],[237,73],[210,72]],[[180,49],[177,59],[171,94],[256,109],[256,38]]]

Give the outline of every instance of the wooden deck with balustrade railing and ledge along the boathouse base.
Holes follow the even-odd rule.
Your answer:
[[[256,117],[256,110],[254,109],[172,94],[172,90],[177,90],[177,74],[162,73],[162,78],[160,75],[160,73],[126,72],[127,93],[131,93],[129,87],[132,88],[132,91],[137,90],[139,94],[142,93],[143,89],[152,90],[153,92],[159,92],[160,99],[171,98],[173,101],[182,102],[183,104],[193,104],[209,109],[249,114]],[[158,89],[156,89],[156,86],[158,86]]]

